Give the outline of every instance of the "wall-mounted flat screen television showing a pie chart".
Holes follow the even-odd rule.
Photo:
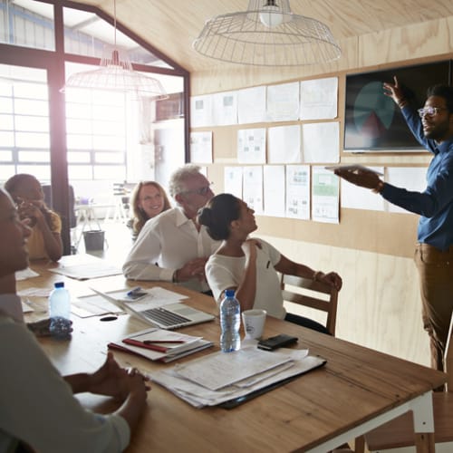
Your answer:
[[[451,84],[451,63],[446,60],[347,75],[343,149],[352,152],[422,150],[406,126],[400,108],[383,94],[382,83],[393,82],[396,75],[407,99],[420,108],[431,85]]]

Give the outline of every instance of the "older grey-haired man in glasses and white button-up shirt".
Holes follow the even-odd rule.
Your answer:
[[[207,292],[205,263],[218,242],[197,223],[197,212],[213,197],[197,165],[188,164],[170,177],[169,192],[178,206],[151,218],[140,231],[122,271],[135,280],[174,282]]]

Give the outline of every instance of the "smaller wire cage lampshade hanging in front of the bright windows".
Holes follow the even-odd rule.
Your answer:
[[[157,79],[134,71],[127,52],[116,45],[105,45],[100,68],[73,73],[63,91],[68,87],[132,92],[155,100],[169,97]]]

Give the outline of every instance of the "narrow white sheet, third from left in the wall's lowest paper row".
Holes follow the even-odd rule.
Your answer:
[[[263,168],[265,216],[284,217],[284,165]]]

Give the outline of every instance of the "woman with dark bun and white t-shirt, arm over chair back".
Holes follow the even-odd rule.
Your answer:
[[[220,194],[198,213],[198,222],[207,226],[208,234],[213,239],[223,241],[206,264],[207,282],[217,304],[224,298],[226,289],[236,289],[241,311],[265,309],[267,314],[275,318],[328,333],[320,323],[285,313],[276,271],[319,280],[333,285],[337,290],[342,287],[341,277],[334,272],[315,272],[306,265],[289,260],[265,241],[249,238],[248,235],[257,227],[254,212],[241,199]]]

